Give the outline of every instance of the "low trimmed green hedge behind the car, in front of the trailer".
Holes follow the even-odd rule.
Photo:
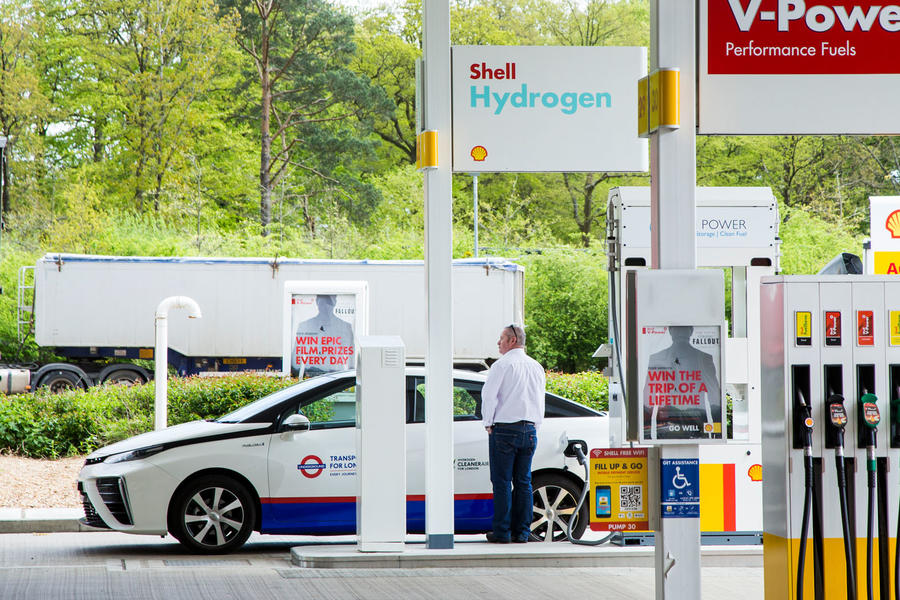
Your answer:
[[[296,379],[237,375],[169,379],[169,425],[214,419],[296,383]],[[547,390],[598,410],[606,409],[606,380],[599,373],[547,374]],[[53,395],[0,397],[0,451],[58,458],[153,429],[153,383],[105,385]]]

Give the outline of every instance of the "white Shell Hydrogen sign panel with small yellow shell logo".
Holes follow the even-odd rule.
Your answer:
[[[647,49],[454,46],[453,170],[647,171]]]

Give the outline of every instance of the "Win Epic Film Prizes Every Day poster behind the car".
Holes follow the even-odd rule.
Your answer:
[[[356,367],[356,294],[291,294],[291,375]]]

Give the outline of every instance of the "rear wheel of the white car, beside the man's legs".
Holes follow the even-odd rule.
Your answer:
[[[541,542],[560,542],[567,539],[569,520],[574,518],[572,537],[578,539],[588,522],[588,507],[582,505],[576,515],[581,488],[568,477],[554,473],[536,475],[531,483],[534,493],[534,516],[531,521],[532,539]]]

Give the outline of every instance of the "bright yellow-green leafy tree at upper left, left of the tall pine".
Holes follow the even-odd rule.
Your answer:
[[[168,184],[217,128],[216,94],[237,57],[233,19],[213,0],[96,0],[57,7],[64,32],[80,41],[67,137],[111,160],[138,210],[158,210]],[[77,131],[76,131],[77,130]]]

